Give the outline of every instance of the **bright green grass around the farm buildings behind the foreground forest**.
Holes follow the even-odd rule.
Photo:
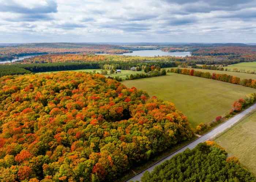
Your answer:
[[[87,70],[70,70],[70,71],[85,71],[85,72],[92,72],[93,70],[96,70],[96,73],[99,72],[101,73],[101,69],[87,69]],[[56,72],[59,72],[59,71],[53,71],[53,72],[40,72],[40,73],[37,73],[37,74],[49,74],[49,73],[56,73]],[[131,70],[121,70],[121,73],[117,73],[117,74],[109,74],[109,71],[108,71],[108,75],[105,75],[106,77],[108,76],[119,76],[120,78],[122,78],[123,80],[125,80],[126,78],[126,75],[130,76],[131,74],[137,74],[137,73],[144,73],[144,71],[131,71]]]

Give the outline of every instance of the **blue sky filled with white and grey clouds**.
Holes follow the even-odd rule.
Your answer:
[[[256,43],[256,0],[0,0],[0,43]]]

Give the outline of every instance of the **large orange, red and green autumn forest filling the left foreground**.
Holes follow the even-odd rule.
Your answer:
[[[173,103],[100,74],[0,78],[0,181],[113,181],[188,141]]]

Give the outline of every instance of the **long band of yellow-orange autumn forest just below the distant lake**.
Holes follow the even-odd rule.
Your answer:
[[[114,61],[114,62],[176,62],[177,66],[192,66],[196,68],[196,64],[206,65],[230,65],[240,62],[253,62],[256,55],[222,55],[222,56],[119,56],[119,55],[88,55],[88,54],[50,54],[41,55],[32,58],[19,60],[15,63],[31,64],[31,63],[72,63],[72,62],[95,62],[95,61]],[[10,64],[10,63],[9,63]]]

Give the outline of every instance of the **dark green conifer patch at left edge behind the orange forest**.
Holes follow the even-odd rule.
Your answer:
[[[5,75],[24,75],[30,73],[32,72],[14,65],[0,65],[0,77]]]

